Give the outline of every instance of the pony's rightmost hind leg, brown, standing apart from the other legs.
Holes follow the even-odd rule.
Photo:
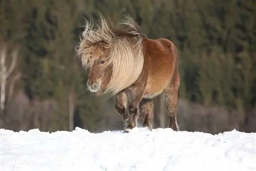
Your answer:
[[[178,90],[180,86],[179,72],[174,72],[173,78],[169,86],[164,90],[165,105],[169,114],[169,127],[174,131],[179,131],[177,123],[177,108],[178,108]]]

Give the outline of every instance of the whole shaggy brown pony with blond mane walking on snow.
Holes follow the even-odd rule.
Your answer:
[[[153,129],[153,98],[164,94],[169,127],[179,131],[177,98],[180,86],[178,51],[165,38],[147,38],[132,17],[114,27],[101,14],[101,25],[86,27],[77,49],[82,66],[89,72],[87,86],[97,95],[116,97],[116,110],[124,120],[124,132],[138,126]]]

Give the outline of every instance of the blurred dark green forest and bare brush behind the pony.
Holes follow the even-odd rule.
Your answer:
[[[114,98],[87,91],[75,52],[84,18],[131,15],[180,54],[181,130],[256,132],[256,1],[0,0],[0,127],[122,129]],[[162,96],[155,128],[166,127]]]

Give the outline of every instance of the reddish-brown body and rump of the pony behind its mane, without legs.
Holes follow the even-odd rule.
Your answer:
[[[145,97],[161,94],[176,69],[177,55],[172,41],[165,38],[143,39],[144,70],[148,72]]]

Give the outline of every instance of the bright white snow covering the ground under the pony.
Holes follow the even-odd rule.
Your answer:
[[[256,170],[256,133],[1,129],[0,170]]]

